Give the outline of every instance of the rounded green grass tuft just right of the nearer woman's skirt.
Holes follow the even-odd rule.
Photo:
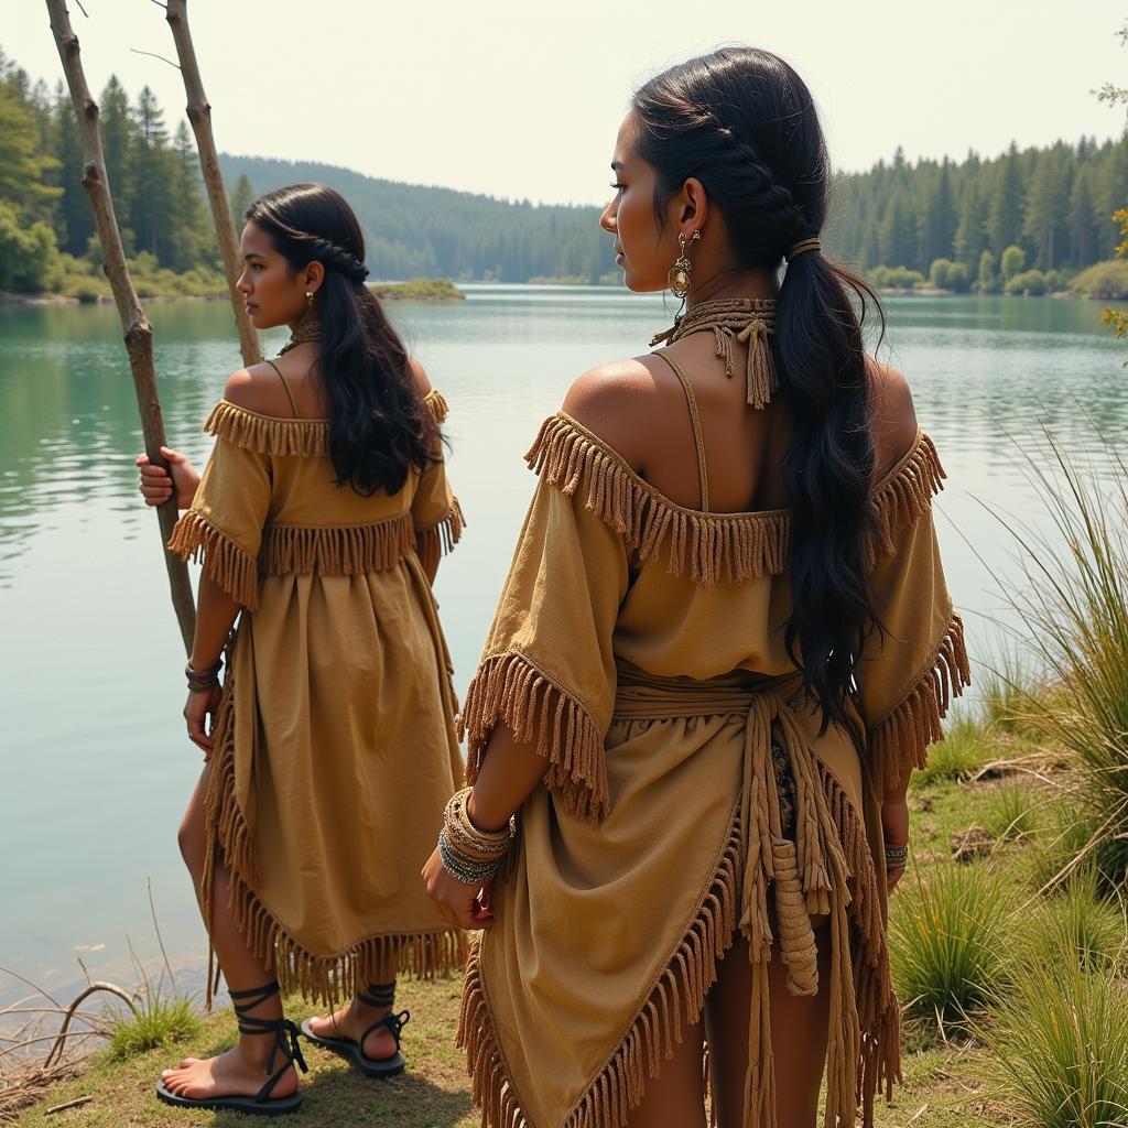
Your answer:
[[[982,865],[931,865],[902,881],[890,909],[893,985],[910,1014],[960,1024],[1001,990],[1014,951],[1016,901]]]

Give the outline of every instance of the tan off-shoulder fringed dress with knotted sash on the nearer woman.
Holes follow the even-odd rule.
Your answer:
[[[861,1104],[869,1126],[899,1079],[880,796],[969,680],[932,442],[918,433],[873,491],[885,640],[862,662],[856,733],[822,737],[784,652],[788,511],[708,512],[704,478],[703,510],[677,505],[563,413],[527,459],[536,493],[462,712],[472,781],[499,721],[550,764],[467,968],[459,1038],[483,1122],[623,1125],[739,928],[746,1125],[772,1128],[767,961],[814,994],[809,914],[829,914],[826,1125]]]

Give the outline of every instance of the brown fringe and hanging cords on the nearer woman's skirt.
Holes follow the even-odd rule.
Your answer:
[[[755,723],[761,737],[773,724],[773,710],[767,702],[757,710]],[[890,981],[885,918],[864,822],[830,769],[795,743],[801,734],[788,712],[776,712],[775,722],[783,725],[796,786],[803,796],[796,840],[778,836],[778,811],[773,810],[778,796],[759,764],[760,770],[752,773],[751,801],[741,800],[738,805],[725,847],[688,933],[562,1128],[619,1128],[626,1121],[642,1101],[646,1078],[656,1076],[662,1059],[680,1045],[682,1020],[691,1025],[700,1015],[716,981],[717,963],[738,927],[749,940],[754,976],[746,1117],[749,1125],[773,1128],[776,1116],[767,966],[773,948],[777,948],[788,966],[792,994],[813,994],[818,989],[809,978],[817,978],[805,944],[810,913],[830,917],[825,940],[831,944],[831,973],[826,985],[831,1004],[827,1128],[852,1123],[860,1105],[864,1128],[872,1128],[876,1091],[883,1089],[891,1096],[893,1083],[900,1082],[900,1011]],[[746,755],[752,755],[748,746]],[[764,760],[767,755],[761,748],[757,759]],[[757,778],[760,782],[755,782]],[[767,787],[760,785],[764,782]],[[741,814],[742,808],[747,817]],[[773,887],[778,945],[773,943],[767,917]],[[802,922],[797,919],[800,913]],[[458,1045],[467,1051],[474,1102],[482,1109],[485,1128],[528,1128],[497,1039],[477,948],[467,963]],[[707,1069],[706,1058],[706,1090]]]

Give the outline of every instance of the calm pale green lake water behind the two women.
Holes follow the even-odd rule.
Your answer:
[[[447,396],[450,470],[469,528],[437,584],[461,691],[532,487],[525,452],[570,381],[646,351],[673,307],[623,291],[470,287],[450,306],[390,305]],[[1022,451],[1049,426],[1112,467],[1095,428],[1128,443],[1128,344],[1098,302],[892,298],[888,359],[913,385],[949,473],[938,527],[973,660],[1007,618],[1014,574],[995,509],[1037,522]],[[203,466],[200,426],[239,367],[229,307],[152,303],[171,442]],[[284,334],[265,340],[273,352]],[[157,521],[135,491],[140,426],[112,307],[0,308],[0,966],[60,996],[81,978],[132,982],[126,937],[202,984],[203,931],[176,847],[201,766],[184,737],[184,653]],[[183,984],[182,984],[183,986]],[[0,1005],[24,994],[0,976]],[[65,1002],[65,1001],[64,1001]]]

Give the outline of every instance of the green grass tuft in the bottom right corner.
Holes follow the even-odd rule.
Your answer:
[[[976,1026],[993,1064],[985,1079],[1025,1128],[1128,1123],[1128,988],[1073,960],[1032,963]]]

